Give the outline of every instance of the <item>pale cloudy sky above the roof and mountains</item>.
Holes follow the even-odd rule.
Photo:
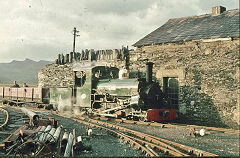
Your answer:
[[[0,0],[0,63],[54,61],[72,51],[132,45],[170,18],[239,9],[238,0]]]

